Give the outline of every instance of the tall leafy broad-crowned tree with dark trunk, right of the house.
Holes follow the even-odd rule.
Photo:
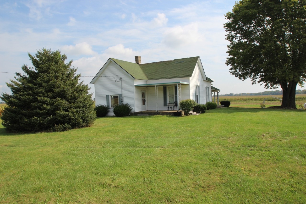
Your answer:
[[[306,81],[306,0],[241,0],[226,13],[230,73],[266,88],[280,86],[282,108],[296,108]]]

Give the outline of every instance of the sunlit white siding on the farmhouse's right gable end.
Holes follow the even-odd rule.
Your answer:
[[[196,99],[195,96],[195,86],[200,86],[200,104],[206,104],[206,86],[209,87],[209,101],[211,101],[211,83],[208,81],[203,81],[203,77],[200,72],[198,64],[193,71],[192,77],[190,77],[190,98],[192,100]]]

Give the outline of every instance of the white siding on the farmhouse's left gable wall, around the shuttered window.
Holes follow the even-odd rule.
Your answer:
[[[114,81],[113,77],[104,76],[117,76],[115,79],[119,80],[122,78],[122,90],[121,81]],[[117,95],[122,94],[124,98],[123,103],[130,104],[135,109],[135,97],[134,97],[134,79],[122,70],[118,65],[110,62],[107,67],[103,70],[100,77],[95,81],[95,104],[106,105],[106,95]],[[108,115],[114,115],[112,108]]]

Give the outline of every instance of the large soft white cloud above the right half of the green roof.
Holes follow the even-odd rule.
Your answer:
[[[200,40],[198,24],[191,23],[186,26],[175,26],[164,32],[162,43],[169,47],[177,48]]]

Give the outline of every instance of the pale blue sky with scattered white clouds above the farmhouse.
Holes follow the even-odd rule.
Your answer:
[[[200,56],[213,86],[225,93],[266,89],[229,73],[224,14],[235,0],[72,1],[1,0],[0,71],[31,66],[27,53],[61,50],[82,76],[95,76],[108,58],[142,63]],[[0,73],[0,93],[15,74]],[[81,77],[89,84],[92,77]],[[93,85],[90,85],[94,92]],[[298,87],[299,88],[299,87]]]

